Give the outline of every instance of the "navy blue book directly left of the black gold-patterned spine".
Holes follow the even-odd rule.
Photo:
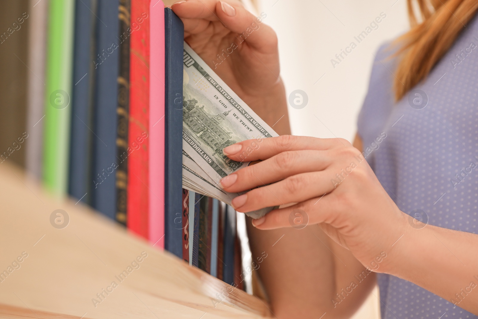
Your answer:
[[[78,1],[82,2],[82,1]],[[116,217],[118,75],[120,20],[118,0],[98,0],[93,168],[91,205],[111,219]]]

